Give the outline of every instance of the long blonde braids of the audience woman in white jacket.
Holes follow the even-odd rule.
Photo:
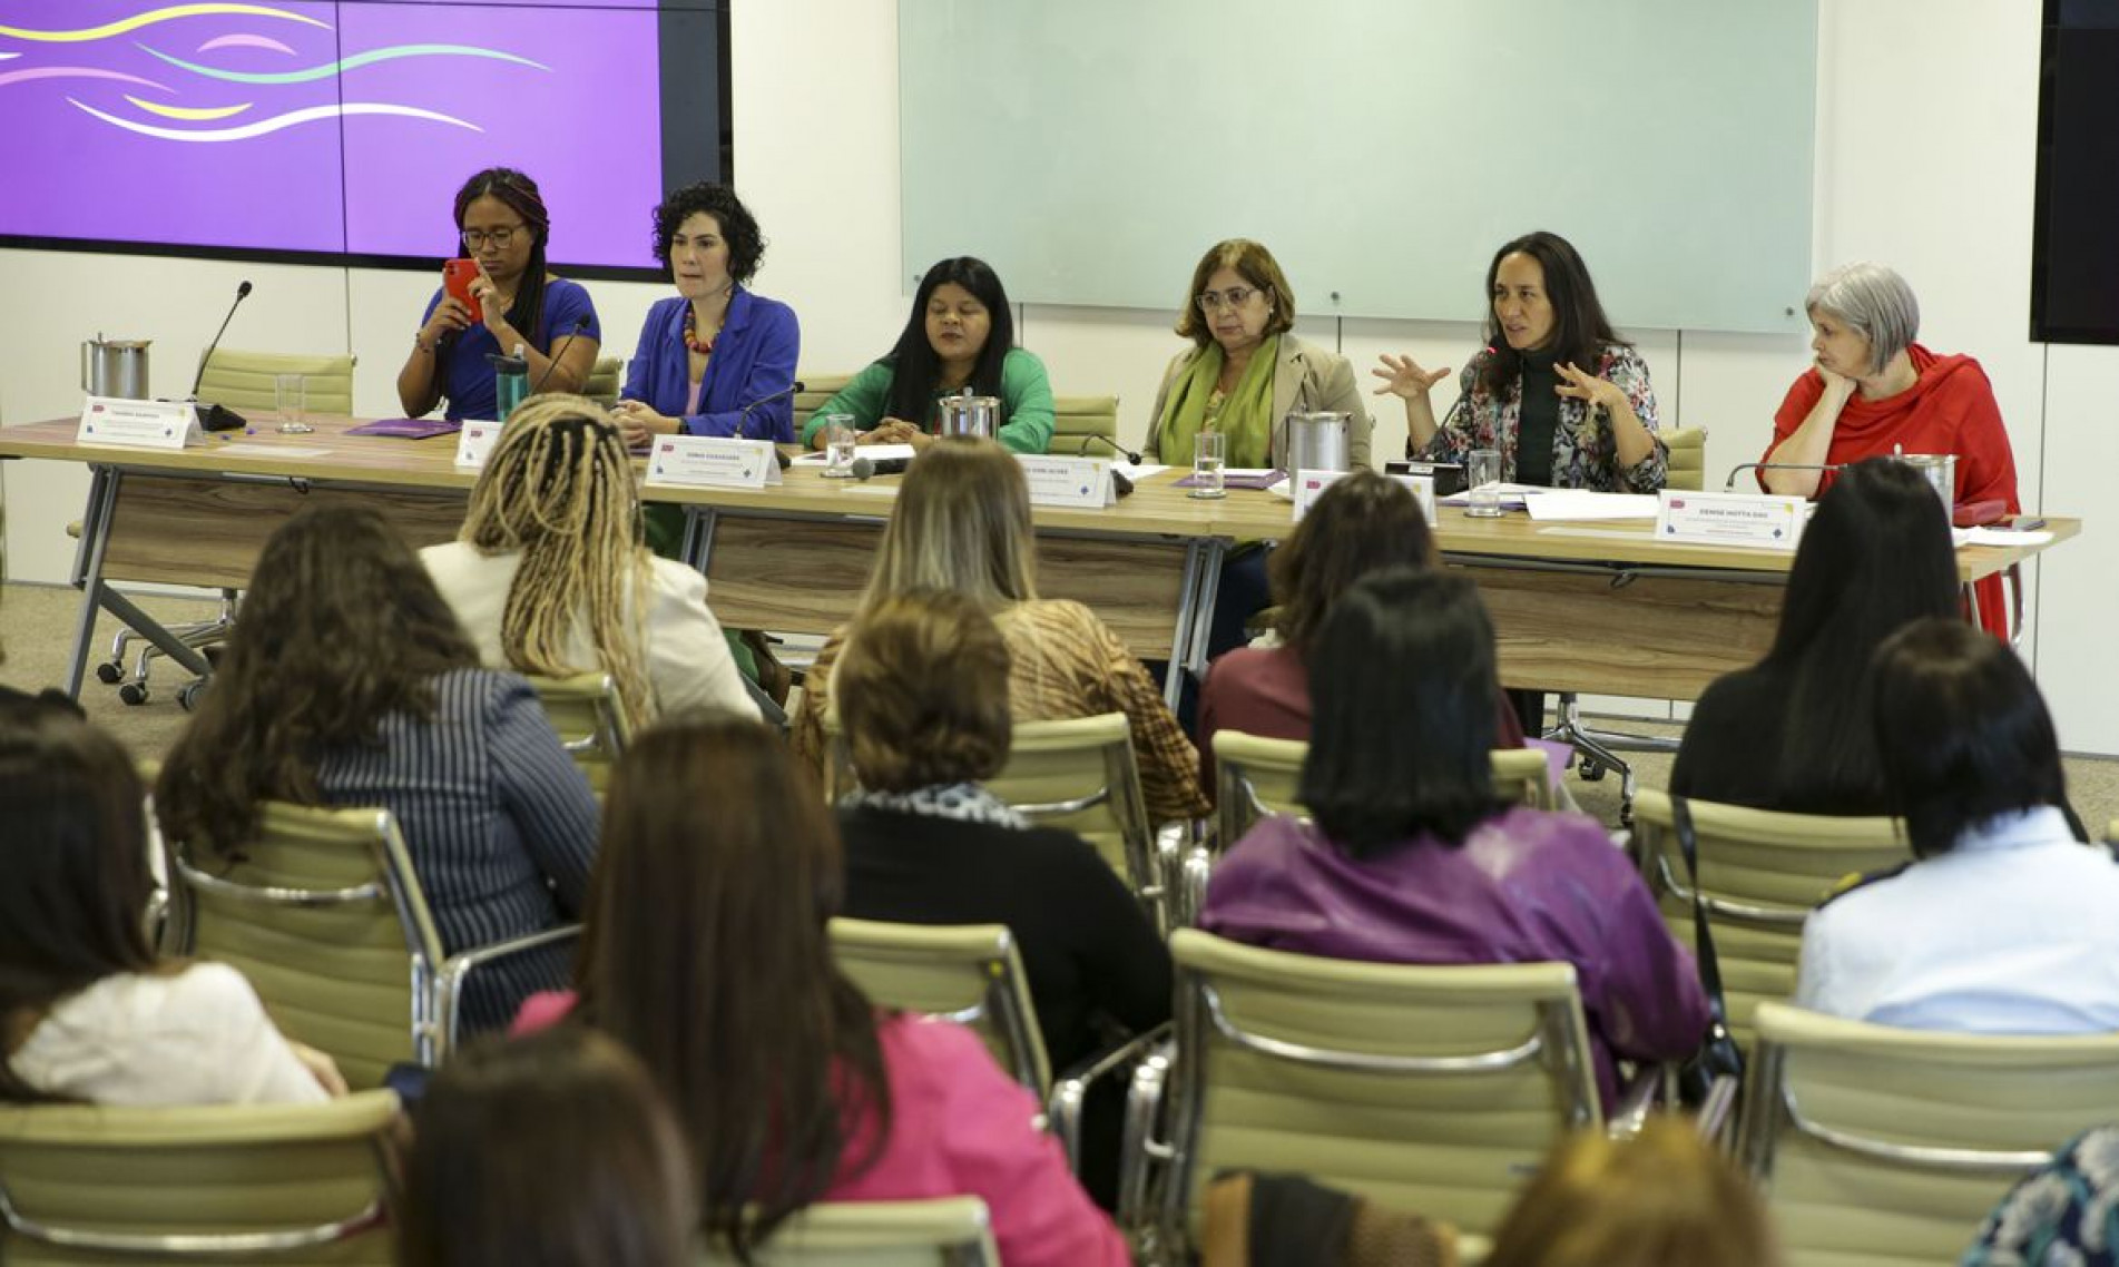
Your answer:
[[[634,727],[653,720],[642,625],[653,581],[640,496],[625,441],[595,400],[551,392],[509,415],[458,540],[481,555],[521,555],[500,612],[509,667],[578,672],[568,642],[585,621],[625,716]]]

